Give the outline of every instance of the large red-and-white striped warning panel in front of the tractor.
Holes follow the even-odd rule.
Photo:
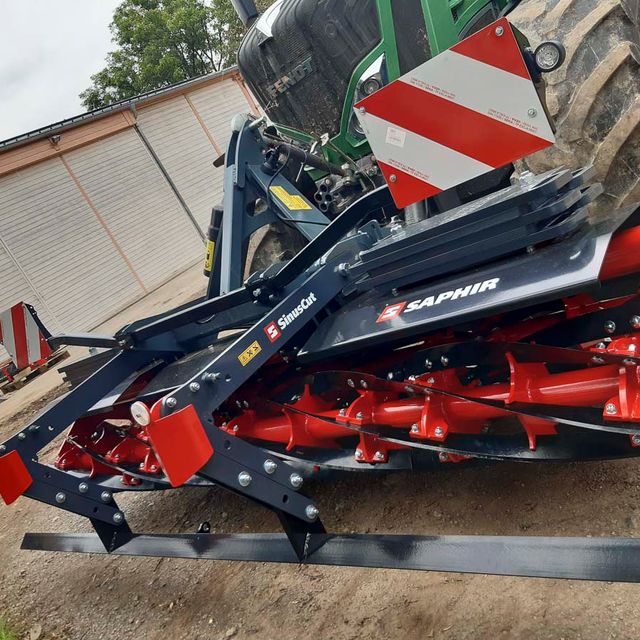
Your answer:
[[[555,143],[506,18],[356,105],[399,208]]]

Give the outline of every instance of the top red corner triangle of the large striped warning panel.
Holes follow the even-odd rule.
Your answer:
[[[499,27],[504,29],[501,36],[496,33],[496,29]],[[513,46],[505,47],[505,40],[509,40]],[[531,80],[516,36],[506,18],[501,18],[494,22],[490,28],[482,29],[469,36],[451,47],[451,51]]]

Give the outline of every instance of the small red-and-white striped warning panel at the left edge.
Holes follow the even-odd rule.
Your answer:
[[[19,302],[0,313],[0,342],[20,370],[46,360],[51,348],[31,309]]]

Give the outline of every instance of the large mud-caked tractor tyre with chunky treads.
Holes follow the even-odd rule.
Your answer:
[[[640,0],[523,0],[509,19],[532,44],[567,48],[546,76],[557,145],[526,167],[593,164],[604,186],[596,214],[640,201]]]

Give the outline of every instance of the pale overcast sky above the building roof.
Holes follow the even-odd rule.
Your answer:
[[[84,111],[120,0],[0,0],[0,140]]]

